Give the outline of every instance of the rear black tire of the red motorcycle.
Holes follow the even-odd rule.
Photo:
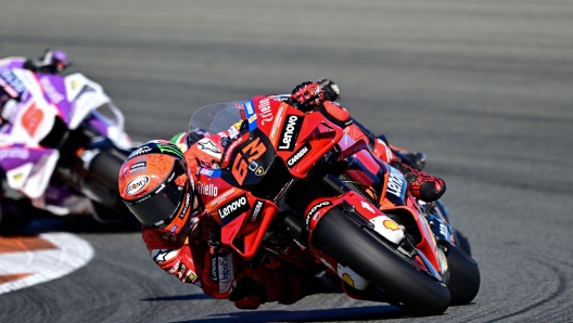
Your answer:
[[[449,247],[446,258],[449,266],[447,286],[451,296],[450,305],[467,305],[480,290],[481,276],[478,263],[457,246]]]

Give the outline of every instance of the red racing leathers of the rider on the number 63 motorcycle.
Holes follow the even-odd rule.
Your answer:
[[[346,109],[330,102],[324,104],[324,114],[342,122],[349,118]],[[369,141],[356,125],[351,122],[343,128],[355,140]],[[232,138],[238,133],[239,126],[233,126],[232,129],[218,134],[205,134],[209,139],[208,145],[200,141],[190,147],[187,146],[188,133],[171,139],[184,152],[192,183],[198,182],[194,169],[199,164],[203,167],[217,165],[220,162],[220,152],[224,151],[221,139]],[[371,150],[374,156],[389,164],[397,160],[382,140],[375,140]],[[198,190],[199,195],[205,192]],[[207,212],[203,212],[201,202],[199,204],[193,206],[195,214],[190,217],[189,223],[179,234],[143,228],[143,241],[151,257],[163,270],[174,274],[181,282],[200,286],[206,295],[230,298],[242,309],[257,308],[265,301],[292,303],[309,292],[304,290],[303,277],[279,270],[280,263],[271,267],[251,267],[225,247],[209,243],[212,233],[220,228]]]

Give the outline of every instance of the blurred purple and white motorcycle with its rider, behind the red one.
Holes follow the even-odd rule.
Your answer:
[[[56,216],[124,221],[129,212],[117,193],[117,173],[133,146],[124,115],[97,82],[79,73],[58,74],[65,53],[49,55],[0,60],[0,228],[9,225],[2,218],[12,205],[26,204]],[[43,68],[41,60],[54,68]]]

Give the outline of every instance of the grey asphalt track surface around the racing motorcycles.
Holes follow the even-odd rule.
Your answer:
[[[139,141],[208,103],[334,79],[357,119],[446,180],[482,286],[433,318],[336,294],[240,311],[156,268],[137,230],[41,220],[29,230],[74,232],[94,257],[0,295],[1,322],[573,321],[572,2],[9,2],[0,56],[65,50]]]

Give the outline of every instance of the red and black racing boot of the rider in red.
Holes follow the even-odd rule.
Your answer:
[[[428,175],[400,162],[393,162],[390,165],[402,171],[416,198],[431,203],[437,201],[446,192],[446,183],[438,177]]]

